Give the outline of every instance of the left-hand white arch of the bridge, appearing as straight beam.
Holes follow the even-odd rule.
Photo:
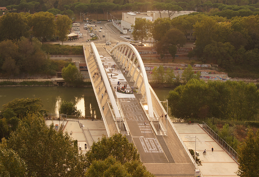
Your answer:
[[[111,87],[110,87],[109,78],[107,77],[104,68],[101,67],[101,66],[102,66],[102,61],[101,61],[101,58],[100,58],[100,56],[99,56],[98,50],[96,49],[96,46],[94,45],[94,42],[91,42],[90,45],[91,45],[91,47],[92,47],[92,50],[93,50],[93,52],[94,52],[96,61],[97,61],[97,63],[98,63],[100,73],[102,74],[103,82],[104,82],[105,88],[106,88],[106,90],[107,90],[107,93],[108,93],[108,95],[109,95],[110,102],[111,102],[111,104],[112,104],[112,108],[113,108],[113,110],[114,110],[115,117],[121,117],[120,112],[119,112],[118,105],[116,104],[116,100],[115,100],[115,98],[114,98],[112,89],[111,89]]]

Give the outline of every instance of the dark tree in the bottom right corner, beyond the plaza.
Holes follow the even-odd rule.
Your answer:
[[[256,135],[253,134],[252,129],[249,130],[247,137],[238,148],[238,171],[237,175],[240,177],[253,177],[259,174],[258,150],[259,146],[259,131]]]

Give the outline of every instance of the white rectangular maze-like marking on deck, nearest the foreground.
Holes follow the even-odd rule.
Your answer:
[[[145,152],[163,152],[156,138],[139,138]]]

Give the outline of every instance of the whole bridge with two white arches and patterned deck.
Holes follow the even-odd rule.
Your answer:
[[[166,111],[149,85],[137,49],[126,42],[110,50],[93,42],[83,47],[108,136],[126,135],[156,176],[193,177],[198,167],[170,117],[165,120]]]

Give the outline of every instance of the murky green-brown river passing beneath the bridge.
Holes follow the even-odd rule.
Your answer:
[[[161,101],[166,100],[171,88],[153,88]],[[92,87],[72,88],[66,86],[51,87],[0,87],[0,110],[2,105],[15,98],[40,98],[50,113],[58,114],[58,109],[63,100],[72,101],[82,111],[83,116],[100,118],[101,113]],[[166,102],[162,103],[166,110]],[[170,112],[168,110],[168,112]],[[170,116],[170,113],[169,113]]]

